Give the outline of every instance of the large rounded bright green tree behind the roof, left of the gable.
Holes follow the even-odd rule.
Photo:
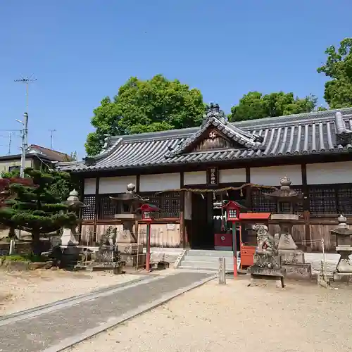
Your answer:
[[[162,75],[151,80],[131,77],[113,100],[108,96],[94,110],[92,125],[85,144],[94,156],[103,148],[106,135],[157,132],[201,125],[205,105],[198,89],[189,89],[178,80]]]

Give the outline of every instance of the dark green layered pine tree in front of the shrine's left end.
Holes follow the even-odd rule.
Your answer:
[[[50,192],[53,175],[38,170],[26,169],[25,176],[30,184],[11,182],[8,189],[10,199],[0,208],[0,224],[32,234],[32,251],[40,255],[40,234],[59,230],[77,222],[75,213]]]

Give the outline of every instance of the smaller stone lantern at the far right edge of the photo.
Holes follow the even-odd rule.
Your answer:
[[[336,271],[334,272],[334,280],[346,279],[351,281],[352,278],[352,263],[349,256],[352,253],[352,230],[347,225],[347,219],[340,215],[337,218],[339,225],[330,232],[336,235],[336,251],[340,255],[339,263],[337,263]]]

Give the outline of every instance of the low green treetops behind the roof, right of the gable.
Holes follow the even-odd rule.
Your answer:
[[[249,92],[239,101],[237,106],[232,106],[230,121],[255,120],[295,113],[310,113],[317,104],[313,95],[298,98],[293,93]]]

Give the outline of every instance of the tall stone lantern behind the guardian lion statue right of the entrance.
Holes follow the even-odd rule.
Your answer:
[[[280,180],[280,188],[271,194],[265,194],[277,202],[277,214],[272,214],[271,219],[279,225],[279,244],[277,251],[282,258],[282,265],[286,268],[287,277],[311,277],[311,265],[304,261],[304,253],[299,250],[292,238],[292,227],[298,220],[294,213],[296,203],[302,199],[302,194],[291,189],[291,180],[284,176]]]

